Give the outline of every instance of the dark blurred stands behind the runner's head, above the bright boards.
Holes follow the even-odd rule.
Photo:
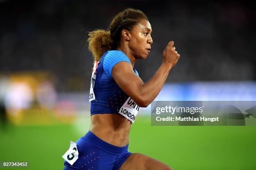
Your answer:
[[[144,82],[170,40],[181,57],[167,82],[256,80],[256,7],[244,1],[0,0],[0,73],[47,71],[58,91],[89,90],[87,32],[107,29],[125,7],[153,29],[151,54],[135,65]]]

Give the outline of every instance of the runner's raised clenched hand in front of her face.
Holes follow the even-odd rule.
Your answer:
[[[174,67],[179,60],[179,54],[173,45],[174,42],[170,41],[163,51],[163,63],[169,65],[170,68]]]

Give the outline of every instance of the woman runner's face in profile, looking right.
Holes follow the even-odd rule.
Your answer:
[[[133,56],[136,59],[145,59],[150,53],[153,43],[152,28],[148,20],[142,19],[131,31],[131,39],[128,43]]]

